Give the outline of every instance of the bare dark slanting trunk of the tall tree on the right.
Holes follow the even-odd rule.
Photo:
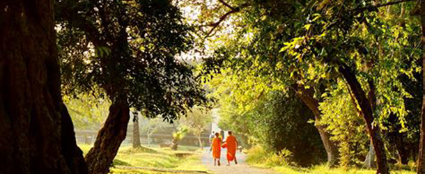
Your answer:
[[[362,111],[364,122],[366,122],[366,129],[369,133],[369,136],[373,143],[373,149],[376,153],[376,163],[378,166],[377,173],[387,174],[389,173],[389,168],[387,164],[387,156],[385,154],[384,142],[380,137],[379,127],[372,125],[373,109],[371,106],[371,102],[366,97],[366,93],[362,89],[362,86],[360,85],[359,81],[357,81],[355,74],[350,70],[347,65],[341,63],[341,65],[339,65],[339,72],[341,72],[344,79],[346,79],[348,86],[350,87],[350,90],[352,91]]]

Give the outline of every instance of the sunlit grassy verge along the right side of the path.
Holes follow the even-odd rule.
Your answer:
[[[309,168],[295,167],[285,164],[284,159],[279,159],[276,155],[265,152],[261,148],[252,148],[247,151],[247,163],[258,168],[271,168],[282,174],[376,174],[376,170],[364,168],[329,168],[327,165],[311,166]],[[398,170],[396,170],[398,168]],[[395,174],[414,174],[415,168],[411,166],[393,167]]]

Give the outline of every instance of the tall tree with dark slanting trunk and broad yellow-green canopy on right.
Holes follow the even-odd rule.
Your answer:
[[[403,62],[417,56],[409,54],[414,54],[415,50],[404,49],[408,47],[408,42],[400,41],[407,41],[409,27],[392,25],[392,19],[376,11],[380,7],[396,6],[405,1],[378,4],[372,4],[371,1],[363,4],[352,1],[314,2],[235,1],[236,4],[249,3],[249,8],[244,10],[250,13],[238,13],[242,17],[238,25],[245,26],[240,30],[242,33],[235,34],[241,41],[233,43],[235,47],[226,45],[216,49],[215,62],[228,63],[226,61],[229,59],[226,58],[230,57],[233,59],[229,64],[237,70],[252,67],[258,70],[258,74],[271,74],[272,77],[277,74],[273,78],[275,81],[283,81],[286,85],[295,84],[295,89],[301,85],[302,88],[313,90],[314,93],[309,93],[314,94],[316,99],[323,93],[320,88],[332,85],[335,79],[344,79],[362,111],[376,150],[378,173],[388,173],[385,147],[380,137],[382,122],[379,121],[391,112],[396,112],[401,118],[405,116],[405,109],[399,103],[400,99],[403,100],[409,94],[405,93],[396,77],[399,74],[411,75],[416,70],[415,65],[404,66]],[[413,26],[411,24],[414,22],[407,22],[408,26]],[[381,28],[383,26],[392,29]],[[385,44],[380,44],[383,41]],[[244,52],[244,49],[249,51]],[[293,83],[288,83],[291,81]],[[388,85],[392,88],[388,88]],[[366,95],[371,89],[380,91],[371,96],[385,102],[372,106],[372,100],[369,101]],[[314,106],[316,102],[309,103]],[[309,103],[306,102],[308,106]]]

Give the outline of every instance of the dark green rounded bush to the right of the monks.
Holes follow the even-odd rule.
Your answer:
[[[320,136],[309,123],[314,115],[307,106],[293,92],[272,93],[268,97],[259,104],[258,112],[251,113],[258,143],[272,152],[291,151],[292,160],[300,166],[323,161],[325,153]]]

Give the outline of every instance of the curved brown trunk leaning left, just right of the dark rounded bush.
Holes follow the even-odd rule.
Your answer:
[[[295,92],[297,96],[304,102],[305,105],[314,113],[314,118],[316,121],[316,128],[320,134],[320,139],[322,140],[323,146],[327,152],[327,162],[332,167],[335,166],[338,162],[339,151],[338,146],[334,141],[330,140],[330,134],[326,131],[325,125],[317,124],[320,121],[320,110],[318,109],[319,103],[313,97],[311,91],[306,90],[303,86],[296,86]]]

